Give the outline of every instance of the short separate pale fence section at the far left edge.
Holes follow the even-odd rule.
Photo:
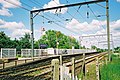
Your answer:
[[[16,49],[15,48],[1,48],[0,58],[15,58]]]

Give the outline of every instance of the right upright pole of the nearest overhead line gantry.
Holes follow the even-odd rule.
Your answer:
[[[107,18],[108,55],[109,55],[109,61],[111,61],[111,53],[110,53],[110,27],[109,27],[109,0],[106,0],[106,18]]]

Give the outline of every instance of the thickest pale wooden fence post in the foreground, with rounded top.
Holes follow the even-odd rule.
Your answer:
[[[59,80],[59,60],[58,59],[52,60],[52,70],[53,70],[52,80]]]

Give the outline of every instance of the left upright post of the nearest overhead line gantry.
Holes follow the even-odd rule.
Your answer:
[[[32,46],[32,54],[34,57],[34,30],[33,30],[33,13],[30,11],[30,25],[31,25],[31,46]]]

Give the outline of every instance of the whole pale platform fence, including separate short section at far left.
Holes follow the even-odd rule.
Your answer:
[[[34,57],[40,57],[44,55],[58,55],[58,54],[74,54],[74,53],[87,53],[96,52],[96,50],[91,49],[34,49]],[[1,48],[0,58],[15,58],[16,49],[15,48]],[[21,49],[21,57],[32,57],[31,49]]]

